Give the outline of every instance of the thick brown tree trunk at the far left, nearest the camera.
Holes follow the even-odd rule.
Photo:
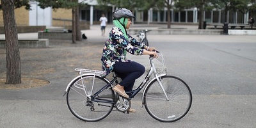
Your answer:
[[[14,13],[14,0],[1,0],[6,45],[6,84],[20,84],[20,51]]]

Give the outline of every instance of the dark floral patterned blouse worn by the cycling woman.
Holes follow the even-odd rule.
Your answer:
[[[113,70],[116,61],[131,62],[131,60],[127,60],[126,52],[130,52],[134,55],[143,54],[143,49],[146,45],[139,42],[131,35],[127,34],[127,36],[128,40],[125,39],[121,29],[115,26],[109,32],[101,58],[102,70],[104,71],[102,77],[107,76]]]

